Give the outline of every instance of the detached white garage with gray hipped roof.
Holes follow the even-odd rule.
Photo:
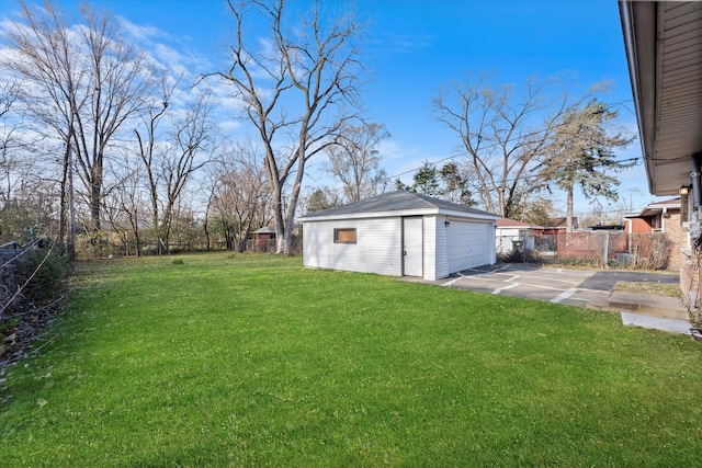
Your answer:
[[[427,195],[389,192],[299,218],[303,263],[435,281],[494,264],[497,219]]]

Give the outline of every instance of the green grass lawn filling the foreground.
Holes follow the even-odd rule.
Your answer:
[[[299,258],[78,265],[0,466],[699,466],[702,346]]]

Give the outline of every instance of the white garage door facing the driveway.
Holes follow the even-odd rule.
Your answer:
[[[455,273],[492,262],[495,228],[489,222],[451,220],[448,239],[449,272]]]

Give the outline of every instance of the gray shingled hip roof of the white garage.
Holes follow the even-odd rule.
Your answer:
[[[339,215],[356,215],[362,213],[381,213],[381,212],[405,212],[410,209],[441,209],[450,212],[460,212],[467,215],[479,216],[496,216],[491,213],[483,212],[480,209],[471,208],[456,203],[446,202],[443,199],[433,198],[431,196],[422,195],[420,193],[397,191],[387,192],[382,195],[374,196],[372,198],[362,199],[360,202],[350,203],[348,205],[335,206],[333,208],[322,209],[302,217],[302,220],[307,218],[317,218],[326,216],[339,216]]]

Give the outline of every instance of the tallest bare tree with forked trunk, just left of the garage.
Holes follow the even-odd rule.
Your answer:
[[[305,164],[351,118],[344,106],[359,106],[353,47],[359,26],[348,15],[322,15],[319,2],[299,23],[293,23],[284,0],[228,4],[235,19],[231,66],[215,75],[231,84],[257,129],[273,196],[276,252],[286,254]],[[262,20],[268,35],[252,35],[249,20]]]

